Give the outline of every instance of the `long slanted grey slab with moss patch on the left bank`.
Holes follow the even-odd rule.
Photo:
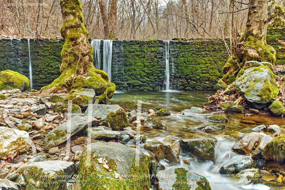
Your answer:
[[[97,119],[91,118],[91,125],[97,123]],[[50,149],[53,146],[62,144],[67,140],[67,127],[68,121],[54,128],[44,138],[45,150]],[[78,135],[88,126],[88,117],[74,116],[71,118],[71,137]]]

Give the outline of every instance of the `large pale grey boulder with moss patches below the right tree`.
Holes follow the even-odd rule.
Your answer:
[[[236,80],[236,85],[255,109],[266,108],[279,93],[275,75],[267,66],[245,72]]]

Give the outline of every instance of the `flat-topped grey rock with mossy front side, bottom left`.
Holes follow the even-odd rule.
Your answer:
[[[33,162],[27,165],[24,170],[25,180],[29,182],[27,190],[35,188],[45,190],[61,189],[64,182],[74,174],[74,171],[75,165],[73,162],[62,160]],[[44,177],[40,177],[41,175]],[[43,182],[47,182],[48,185]]]

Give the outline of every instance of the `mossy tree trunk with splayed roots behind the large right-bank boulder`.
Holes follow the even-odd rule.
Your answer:
[[[251,64],[244,64],[247,61],[275,63],[276,51],[266,43],[267,1],[249,0],[248,8],[245,33],[238,44],[238,52],[228,59],[223,68],[223,78],[219,80],[222,85],[231,84],[251,67]]]

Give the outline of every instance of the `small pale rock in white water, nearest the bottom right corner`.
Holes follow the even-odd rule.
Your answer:
[[[236,176],[239,178],[239,182],[243,184],[250,184],[259,178],[259,169],[245,169],[239,172]]]

